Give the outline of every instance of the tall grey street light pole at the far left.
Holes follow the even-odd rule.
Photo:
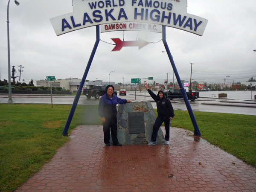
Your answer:
[[[20,5],[19,2],[16,0],[14,1],[15,4],[18,6]],[[9,36],[9,4],[10,0],[8,1],[7,5],[7,45],[8,45],[8,88],[9,88],[9,100],[8,103],[12,104],[12,82],[11,82],[11,61],[10,61],[10,36]]]

